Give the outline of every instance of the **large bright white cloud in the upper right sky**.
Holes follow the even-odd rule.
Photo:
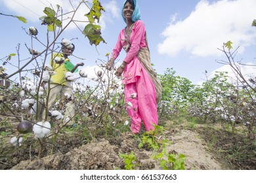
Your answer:
[[[171,16],[165,38],[158,44],[160,54],[177,56],[189,52],[194,56],[220,56],[217,50],[223,42],[234,42],[233,47],[240,46],[242,53],[246,46],[255,44],[256,31],[251,23],[256,18],[255,0],[223,0],[209,3],[200,1],[190,16],[177,20]]]

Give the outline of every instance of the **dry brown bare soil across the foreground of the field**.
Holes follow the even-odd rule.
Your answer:
[[[185,169],[221,170],[255,169],[255,144],[245,145],[245,137],[234,135],[217,126],[193,125],[188,122],[175,124],[165,121],[165,131],[161,138],[171,141],[167,152],[184,154]],[[47,139],[43,158],[38,158],[39,142],[34,137],[26,137],[26,143],[13,147],[9,139],[0,139],[0,169],[18,170],[112,170],[125,169],[125,162],[119,154],[134,152],[134,169],[162,169],[160,162],[152,159],[152,150],[138,148],[141,135],[127,136],[118,130],[117,135],[99,137],[87,141],[81,137],[81,129],[67,131],[61,137]],[[3,144],[6,145],[4,146]],[[49,155],[50,154],[50,155]]]

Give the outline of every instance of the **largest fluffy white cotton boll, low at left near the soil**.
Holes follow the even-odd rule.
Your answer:
[[[51,124],[49,122],[37,122],[33,125],[35,137],[42,139],[51,133]]]

